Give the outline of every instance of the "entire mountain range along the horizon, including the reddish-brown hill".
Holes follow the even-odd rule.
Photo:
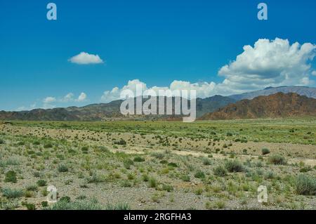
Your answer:
[[[286,93],[276,94],[275,93]],[[287,95],[287,93],[296,93]],[[261,96],[272,95],[268,98]],[[257,98],[260,96],[259,98]],[[286,117],[294,115],[314,114],[316,88],[304,86],[268,87],[260,91],[239,95],[214,95],[209,98],[197,98],[197,117],[201,119],[237,119],[257,117]],[[135,100],[135,99],[134,99]],[[240,101],[241,100],[241,101]],[[298,105],[286,107],[284,102],[296,102]],[[143,100],[143,103],[145,101]],[[173,98],[174,102],[174,98]],[[124,116],[119,107],[122,100],[110,103],[86,105],[84,107],[60,107],[53,109],[34,109],[20,112],[0,111],[0,120],[24,121],[103,121],[113,119],[178,119],[180,115],[132,115]],[[307,104],[306,104],[307,103]],[[257,105],[258,104],[258,105]],[[316,103],[315,103],[316,104]],[[174,104],[173,104],[174,105]],[[271,107],[273,105],[273,107]],[[309,106],[308,106],[309,105]],[[298,108],[300,107],[300,108]],[[313,109],[314,108],[314,109]],[[282,112],[287,109],[286,112]],[[165,108],[166,110],[166,108]],[[235,110],[235,112],[234,112]],[[306,111],[308,110],[308,111]],[[174,108],[173,108],[174,111]]]

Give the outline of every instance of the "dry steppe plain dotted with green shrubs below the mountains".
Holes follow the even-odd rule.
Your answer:
[[[13,121],[0,159],[1,209],[316,209],[314,118]]]

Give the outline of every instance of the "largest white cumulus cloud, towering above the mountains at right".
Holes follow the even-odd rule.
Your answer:
[[[220,68],[225,77],[220,86],[232,90],[252,90],[265,86],[310,84],[310,62],[316,45],[290,44],[287,39],[258,39],[254,46],[244,46],[244,52]]]

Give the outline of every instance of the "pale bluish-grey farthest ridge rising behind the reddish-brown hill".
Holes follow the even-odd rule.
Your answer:
[[[242,93],[236,95],[229,95],[229,98],[237,101],[244,99],[253,99],[259,95],[271,95],[275,93],[297,93],[298,95],[305,95],[309,98],[316,98],[316,88],[305,87],[305,86],[279,86],[279,87],[268,87],[263,90]]]

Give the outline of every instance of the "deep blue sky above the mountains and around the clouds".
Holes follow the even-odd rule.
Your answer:
[[[244,74],[249,74],[249,68],[240,63],[230,66],[244,52],[243,46],[254,46],[258,39],[271,43],[276,38],[288,39],[289,46],[296,41],[316,44],[316,1],[262,1],[268,4],[265,21],[257,19],[261,1],[254,0],[52,0],[58,7],[56,21],[46,19],[49,1],[1,1],[0,110],[100,103],[107,96],[112,99],[111,92],[105,95],[105,91],[122,88],[134,79],[148,87],[170,86],[175,80],[202,83],[202,96],[292,84],[281,80],[284,74],[288,77],[288,62],[282,69],[270,65],[271,61],[272,68],[265,67],[265,72],[257,69],[260,81],[248,79]],[[263,48],[271,45],[260,44]],[[70,61],[81,52],[99,55],[103,63]],[[299,63],[295,71],[302,74],[297,83],[315,86],[315,59]],[[301,70],[302,64],[312,67]],[[228,70],[219,75],[225,65]],[[280,74],[273,80],[263,79],[266,71]],[[204,91],[203,83],[219,85]],[[69,93],[71,100],[65,100]],[[84,100],[78,98],[81,93],[86,95]],[[49,104],[44,105],[44,99]]]

